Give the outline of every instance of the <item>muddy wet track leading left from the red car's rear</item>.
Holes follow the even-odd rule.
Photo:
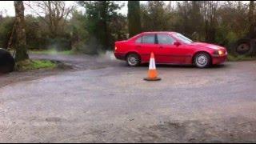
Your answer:
[[[63,55],[63,54],[30,54],[31,59],[50,60],[57,64],[53,70],[30,70],[26,72],[14,71],[10,74],[0,75],[0,88],[11,83],[30,81],[45,78],[50,75],[60,74],[63,71],[75,70],[99,70],[109,66],[115,66],[117,61],[110,58],[111,54],[92,57],[89,55]],[[113,55],[113,54],[112,54]]]

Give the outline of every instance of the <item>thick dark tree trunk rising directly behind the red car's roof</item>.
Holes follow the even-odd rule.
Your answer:
[[[139,1],[128,1],[128,29],[130,37],[142,31]]]

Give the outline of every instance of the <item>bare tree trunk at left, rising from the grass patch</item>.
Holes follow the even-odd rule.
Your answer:
[[[29,59],[26,50],[26,30],[25,30],[25,20],[24,20],[24,6],[22,1],[14,1],[15,14],[16,14],[16,37],[17,46],[15,61],[23,61]]]

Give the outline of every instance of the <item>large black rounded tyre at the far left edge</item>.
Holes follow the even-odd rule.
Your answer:
[[[0,74],[6,74],[14,70],[14,58],[4,49],[0,48]]]

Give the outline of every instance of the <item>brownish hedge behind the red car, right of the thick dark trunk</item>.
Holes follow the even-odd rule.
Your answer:
[[[171,2],[166,5],[162,1],[150,1],[141,9],[144,31],[178,31],[194,41],[226,47],[249,34],[246,2],[179,1],[172,6]]]

